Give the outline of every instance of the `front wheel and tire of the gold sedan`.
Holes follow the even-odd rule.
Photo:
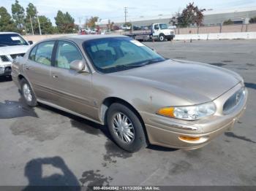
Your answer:
[[[121,120],[118,120],[118,116]],[[125,117],[127,117],[127,120],[125,120]],[[125,122],[118,126],[117,122],[120,121]],[[129,107],[118,103],[112,104],[108,109],[107,124],[110,135],[122,149],[128,152],[137,152],[147,146],[143,124]],[[123,137],[121,132],[124,132]]]

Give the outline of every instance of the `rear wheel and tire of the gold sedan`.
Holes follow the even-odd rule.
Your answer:
[[[23,99],[26,101],[28,106],[34,107],[37,106],[37,98],[32,90],[29,82],[26,79],[20,80],[21,94]]]

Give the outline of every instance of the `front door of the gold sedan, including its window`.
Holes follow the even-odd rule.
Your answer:
[[[61,107],[93,118],[91,74],[70,69],[70,63],[76,60],[86,63],[76,44],[68,41],[56,44],[54,67],[50,70],[55,101]]]

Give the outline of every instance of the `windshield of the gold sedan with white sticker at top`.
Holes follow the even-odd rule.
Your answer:
[[[129,37],[93,39],[83,43],[94,67],[102,73],[111,73],[165,61],[144,44]]]

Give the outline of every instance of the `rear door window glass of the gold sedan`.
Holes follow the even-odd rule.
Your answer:
[[[54,41],[38,44],[34,61],[50,66]]]

